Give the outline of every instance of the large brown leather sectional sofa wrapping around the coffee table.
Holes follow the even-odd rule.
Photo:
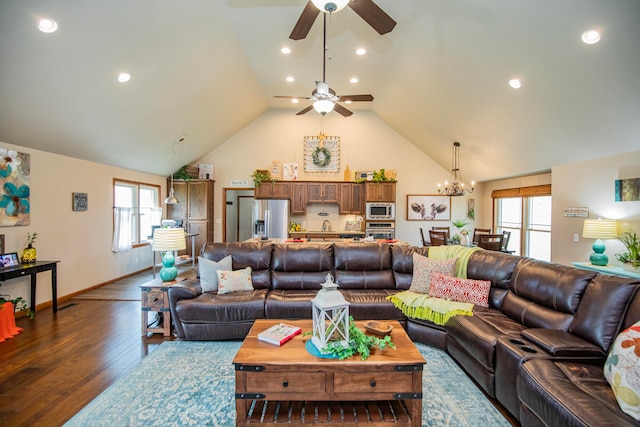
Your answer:
[[[639,425],[603,376],[619,331],[640,320],[640,281],[494,251],[474,252],[468,277],[490,280],[490,307],[444,326],[407,318],[386,297],[406,290],[412,255],[427,248],[377,243],[208,243],[202,251],[252,268],[254,290],[169,288],[178,337],[242,339],[261,318],[310,318],[310,299],[334,275],[356,319],[394,319],[418,342],[446,350],[523,426]]]

